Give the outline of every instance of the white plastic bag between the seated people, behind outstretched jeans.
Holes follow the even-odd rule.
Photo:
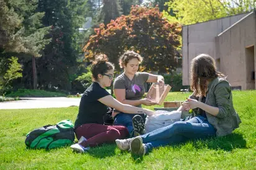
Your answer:
[[[155,111],[153,116],[147,116],[145,121],[145,132],[149,133],[153,130],[173,124],[180,121],[181,111]]]

